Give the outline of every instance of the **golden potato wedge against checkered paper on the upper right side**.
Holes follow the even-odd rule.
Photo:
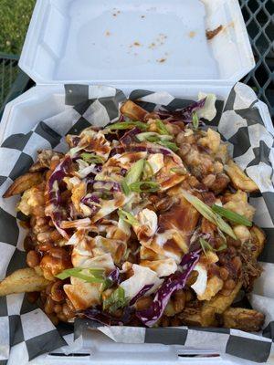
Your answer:
[[[226,165],[226,172],[235,189],[240,189],[247,193],[258,192],[257,183],[254,183],[253,180],[237,166],[237,163],[229,160]]]

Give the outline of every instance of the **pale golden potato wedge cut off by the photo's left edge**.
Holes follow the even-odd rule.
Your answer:
[[[0,297],[15,293],[41,291],[49,283],[44,276],[37,275],[35,269],[30,267],[22,268],[0,282]]]

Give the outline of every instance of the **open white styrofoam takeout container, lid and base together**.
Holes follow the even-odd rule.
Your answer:
[[[222,32],[207,41],[205,29],[219,25]],[[204,91],[226,100],[254,58],[237,0],[37,0],[19,66],[37,86],[6,105],[0,143],[65,110],[64,84],[111,85],[126,95],[165,90],[185,99]],[[259,108],[266,113],[263,103]],[[43,355],[31,362],[250,363],[185,355],[208,350],[115,344],[94,332],[79,352],[90,355]]]

